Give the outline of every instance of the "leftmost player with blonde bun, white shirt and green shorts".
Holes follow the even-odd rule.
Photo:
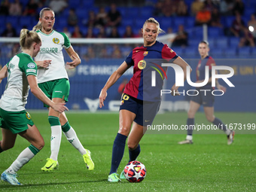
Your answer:
[[[3,78],[8,77],[5,92],[0,100],[0,124],[2,127],[0,153],[14,147],[17,134],[31,144],[1,175],[3,181],[14,185],[20,185],[17,180],[17,171],[44,147],[44,139],[25,108],[29,87],[38,99],[53,110],[59,113],[68,110],[64,103],[52,102],[48,99],[38,87],[37,66],[32,57],[36,56],[40,50],[40,36],[36,32],[29,32],[28,29],[21,29],[20,46],[23,52],[14,56],[0,72],[0,82]]]

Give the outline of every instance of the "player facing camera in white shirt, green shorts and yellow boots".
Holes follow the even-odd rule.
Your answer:
[[[75,52],[70,44],[69,38],[63,32],[56,32],[53,29],[55,23],[54,12],[50,8],[43,8],[39,14],[39,22],[33,28],[38,35],[41,36],[43,43],[41,50],[35,57],[38,66],[38,86],[44,93],[52,99],[53,102],[68,102],[69,97],[69,77],[65,69],[62,47],[69,54],[72,62],[67,62],[70,69],[75,68],[81,63],[78,53]],[[94,163],[90,157],[90,151],[85,149],[78,139],[75,130],[69,125],[66,114],[53,111],[49,105],[45,105],[49,109],[48,120],[51,128],[50,139],[50,158],[41,168],[43,171],[53,171],[58,168],[58,154],[61,142],[62,131],[68,141],[80,152],[84,157],[87,169],[93,170]]]

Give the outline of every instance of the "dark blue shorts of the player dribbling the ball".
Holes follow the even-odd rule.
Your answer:
[[[136,114],[133,121],[141,126],[151,125],[159,108],[160,102],[146,102],[124,93],[121,97],[120,110],[125,109]]]

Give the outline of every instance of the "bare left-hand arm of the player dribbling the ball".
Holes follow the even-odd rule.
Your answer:
[[[107,90],[120,78],[120,76],[123,75],[124,72],[126,72],[127,69],[129,69],[130,66],[127,65],[127,63],[124,61],[119,68],[108,78],[107,83],[102,88],[102,91],[99,94],[99,107],[102,108],[104,106],[105,98],[107,97],[108,93]]]

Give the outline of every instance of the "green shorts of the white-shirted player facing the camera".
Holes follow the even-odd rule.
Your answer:
[[[70,84],[66,78],[56,79],[53,81],[47,81],[38,84],[38,87],[44,92],[44,94],[51,100],[53,98],[63,98],[65,102],[68,102]],[[45,105],[44,107],[49,108],[50,106]]]

